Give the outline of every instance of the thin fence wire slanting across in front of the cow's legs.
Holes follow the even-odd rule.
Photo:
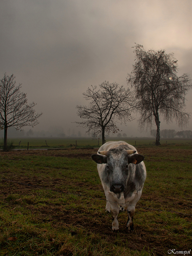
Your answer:
[[[85,197],[85,198],[89,198],[89,199],[95,199],[95,200],[102,200],[102,201],[108,201],[109,203],[117,203],[117,202],[113,202],[113,201],[109,201],[106,200],[104,198],[94,198],[91,197],[89,195],[82,195],[82,194],[74,194],[71,192],[63,192],[62,190],[56,190],[56,189],[51,189],[51,188],[45,188],[45,187],[41,187],[38,185],[31,185],[31,184],[27,184],[27,183],[23,183],[23,182],[18,182],[18,181],[14,181],[14,180],[7,180],[7,179],[3,179],[1,178],[1,180],[7,181],[7,182],[12,182],[12,183],[17,183],[19,185],[24,185],[24,186],[28,186],[28,187],[33,187],[33,188],[39,188],[42,190],[51,190],[53,192],[58,192],[58,193],[62,193],[62,194],[67,194],[67,195],[75,195],[75,196],[80,196],[80,197]],[[118,204],[118,203],[117,203]],[[126,207],[128,206],[127,204],[121,203],[121,205],[125,205]],[[129,204],[130,205],[130,204]],[[149,207],[144,207],[144,206],[139,206],[139,205],[131,205],[134,206],[136,208],[142,208],[145,210],[153,210],[153,211],[159,211],[159,212],[169,212],[169,213],[177,213],[180,215],[186,215],[186,216],[192,216],[192,214],[188,214],[188,213],[181,213],[181,212],[177,212],[177,211],[173,211],[173,210],[162,210],[162,209],[156,209],[156,208],[149,208]]]

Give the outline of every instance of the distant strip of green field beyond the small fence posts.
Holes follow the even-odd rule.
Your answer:
[[[155,139],[154,138],[109,138],[107,141],[117,141],[123,140],[128,142],[131,145],[139,146],[139,147],[155,147]],[[28,147],[31,148],[81,148],[81,147],[99,147],[101,146],[101,140],[99,141],[95,139],[86,139],[86,138],[78,138],[78,139],[62,139],[62,138],[15,138],[9,139],[9,142],[13,142],[13,145],[16,148],[23,149]],[[20,143],[20,146],[19,146]],[[47,143],[47,144],[46,144]],[[2,139],[3,144],[3,139]],[[161,139],[162,147],[175,147],[175,148],[184,148],[184,149],[192,149],[192,139]],[[48,146],[47,146],[48,145]]]

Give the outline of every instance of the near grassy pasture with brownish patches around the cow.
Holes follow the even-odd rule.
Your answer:
[[[185,147],[138,146],[145,156],[147,180],[133,233],[126,233],[126,212],[119,214],[119,232],[111,231],[112,216],[105,213],[104,191],[91,160],[96,149],[1,152],[0,256],[189,251],[192,150]]]

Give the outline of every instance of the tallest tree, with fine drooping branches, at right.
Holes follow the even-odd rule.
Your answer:
[[[189,113],[185,112],[185,96],[192,87],[187,74],[177,76],[177,60],[173,53],[165,50],[145,51],[135,46],[136,63],[128,74],[128,84],[134,86],[139,112],[140,128],[151,128],[153,120],[157,126],[156,145],[160,145],[160,116],[169,123],[175,119],[182,127],[188,123]]]

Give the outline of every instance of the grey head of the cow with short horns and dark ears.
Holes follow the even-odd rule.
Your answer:
[[[134,154],[135,152],[135,150],[120,148],[100,151],[99,154],[91,156],[97,164],[105,164],[104,173],[108,176],[110,191],[121,193],[125,190],[129,175],[129,164],[139,164],[144,160],[143,155]]]

